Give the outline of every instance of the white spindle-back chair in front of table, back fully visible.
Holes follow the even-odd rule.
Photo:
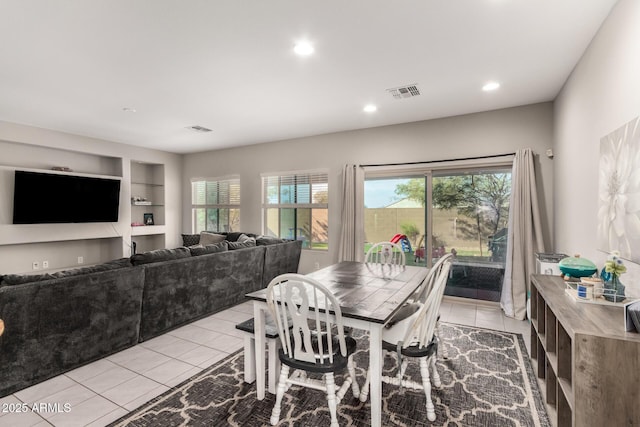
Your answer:
[[[282,344],[271,424],[280,420],[284,393],[295,384],[327,394],[331,426],[337,427],[337,405],[349,387],[356,399],[360,394],[352,357],[356,341],[344,333],[338,301],[318,281],[293,273],[273,279],[267,287],[266,300]],[[335,374],[345,370],[348,375],[336,390]],[[321,374],[322,379],[309,378],[307,372]]]

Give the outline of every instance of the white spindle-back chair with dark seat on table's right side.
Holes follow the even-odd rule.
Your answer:
[[[419,288],[418,299],[404,307],[404,313],[398,318],[394,317],[382,332],[382,348],[386,350],[385,354],[398,358],[397,375],[394,377],[383,375],[382,381],[414,390],[424,390],[429,421],[434,421],[436,418],[431,399],[431,378],[436,387],[441,385],[435,365],[438,349],[436,328],[452,262],[453,257],[450,254],[442,257],[427,275],[423,283],[424,288]],[[403,312],[403,309],[400,312]],[[405,378],[411,359],[419,360],[421,382]],[[369,381],[370,375],[367,373],[367,379],[360,392],[362,402],[367,400]]]

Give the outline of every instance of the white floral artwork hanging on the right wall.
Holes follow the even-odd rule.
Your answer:
[[[640,262],[640,117],[600,140],[598,247]]]

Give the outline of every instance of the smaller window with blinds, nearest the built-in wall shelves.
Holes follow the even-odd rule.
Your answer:
[[[240,178],[208,178],[191,181],[192,229],[240,230]]]

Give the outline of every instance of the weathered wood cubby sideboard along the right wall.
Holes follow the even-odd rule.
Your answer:
[[[531,358],[552,421],[640,426],[640,334],[623,308],[576,301],[559,276],[531,277]]]

